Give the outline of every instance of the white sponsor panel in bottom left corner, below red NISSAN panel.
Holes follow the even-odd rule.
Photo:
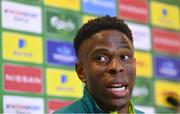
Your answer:
[[[43,114],[44,101],[42,98],[21,96],[3,96],[3,111],[5,113]]]

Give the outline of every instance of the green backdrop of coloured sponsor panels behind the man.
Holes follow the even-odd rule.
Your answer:
[[[0,0],[0,113],[52,113],[82,96],[72,39],[109,14],[132,29],[146,113],[180,112],[179,0]]]

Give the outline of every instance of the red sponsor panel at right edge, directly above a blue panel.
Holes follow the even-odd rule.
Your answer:
[[[161,29],[153,29],[153,47],[155,51],[179,54],[180,34]]]

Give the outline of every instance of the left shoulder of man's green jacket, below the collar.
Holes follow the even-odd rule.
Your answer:
[[[85,112],[84,106],[81,100],[74,102],[73,104],[56,110],[53,114],[61,114],[61,113],[83,113]]]

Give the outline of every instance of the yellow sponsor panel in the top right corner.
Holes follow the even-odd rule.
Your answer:
[[[179,30],[179,9],[178,6],[161,2],[150,2],[151,22],[155,26]]]

